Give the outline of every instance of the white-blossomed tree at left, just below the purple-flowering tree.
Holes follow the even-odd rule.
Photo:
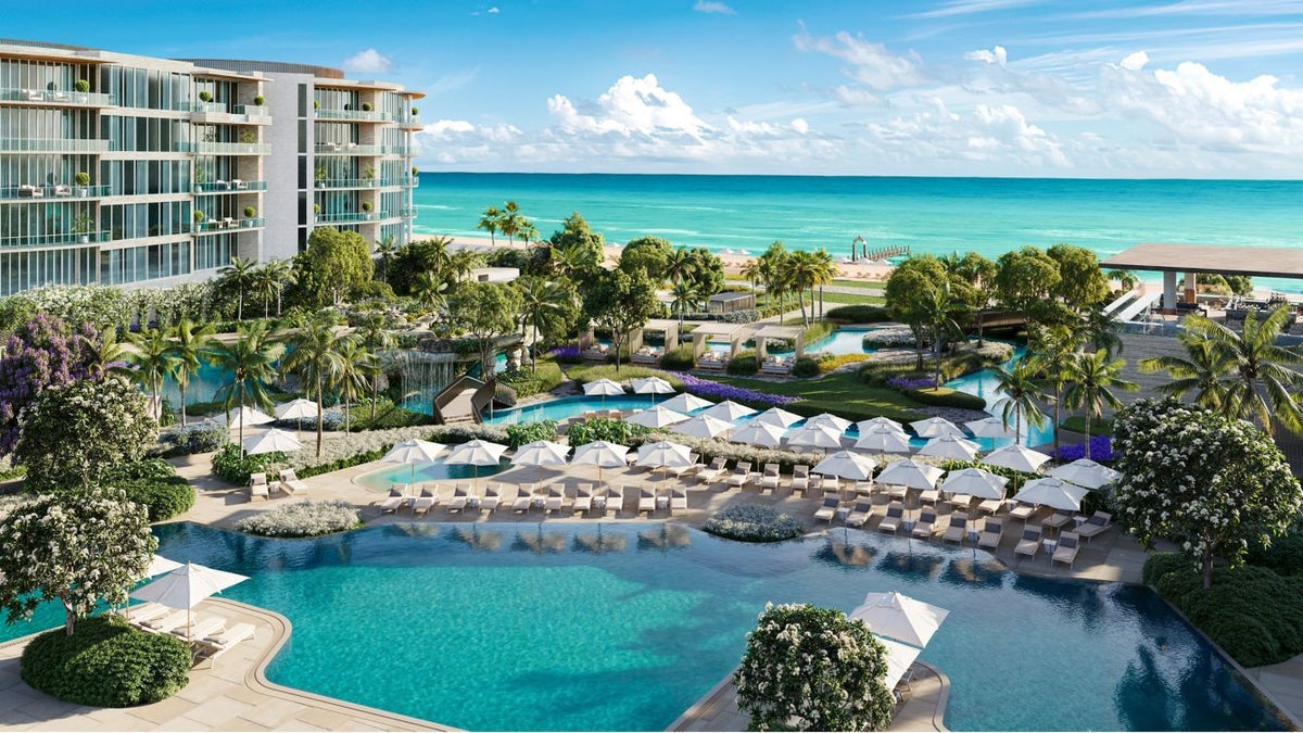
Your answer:
[[[23,411],[13,455],[26,488],[89,488],[116,466],[139,460],[158,438],[145,395],[122,377],[47,387]]]

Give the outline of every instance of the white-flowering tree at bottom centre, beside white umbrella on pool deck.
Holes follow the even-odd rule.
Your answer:
[[[886,730],[887,651],[863,621],[807,604],[765,606],[734,673],[752,730]]]

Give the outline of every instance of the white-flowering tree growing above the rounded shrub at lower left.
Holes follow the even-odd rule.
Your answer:
[[[104,600],[126,603],[126,590],[145,575],[158,540],[149,513],[121,492],[91,489],[43,496],[0,522],[0,608],[9,623],[57,600],[65,629]]]

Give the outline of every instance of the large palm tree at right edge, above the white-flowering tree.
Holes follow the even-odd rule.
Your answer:
[[[1217,381],[1224,385],[1221,413],[1233,419],[1253,419],[1268,434],[1276,434],[1273,420],[1278,420],[1291,433],[1303,433],[1303,410],[1294,400],[1294,393],[1303,387],[1303,373],[1294,369],[1303,365],[1303,353],[1276,346],[1290,318],[1290,305],[1281,304],[1259,320],[1256,313],[1244,318],[1242,333],[1208,320],[1204,316],[1186,316],[1182,323],[1188,339],[1182,339],[1191,359],[1225,369]],[[1203,346],[1191,350],[1190,343]],[[1210,353],[1197,355],[1197,348]],[[1164,359],[1147,359],[1141,369],[1165,368]],[[1175,374],[1174,374],[1175,376]]]

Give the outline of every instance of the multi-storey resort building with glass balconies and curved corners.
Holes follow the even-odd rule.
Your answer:
[[[0,296],[164,287],[314,226],[410,239],[422,94],[323,67],[0,39]]]

